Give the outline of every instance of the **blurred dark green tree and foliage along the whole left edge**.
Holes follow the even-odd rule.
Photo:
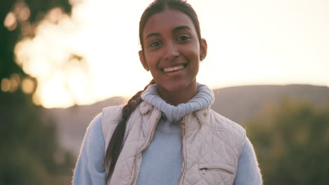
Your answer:
[[[59,148],[55,124],[32,103],[37,82],[13,54],[25,23],[37,22],[56,6],[70,11],[67,0],[0,1],[0,185],[63,184],[56,175],[71,173],[72,156]]]

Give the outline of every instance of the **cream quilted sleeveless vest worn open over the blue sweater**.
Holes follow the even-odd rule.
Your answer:
[[[122,107],[106,107],[102,115],[106,149],[122,116]],[[131,114],[124,146],[108,185],[136,184],[141,153],[152,141],[160,116],[161,112],[147,102]],[[184,116],[181,125],[183,167],[179,184],[233,184],[245,130],[209,108]]]

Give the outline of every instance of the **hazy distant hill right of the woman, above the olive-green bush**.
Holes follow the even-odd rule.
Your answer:
[[[329,88],[315,85],[246,85],[214,90],[212,109],[243,125],[267,104],[302,100],[316,107],[329,104]]]

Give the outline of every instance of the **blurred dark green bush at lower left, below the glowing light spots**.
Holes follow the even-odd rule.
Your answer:
[[[0,95],[0,184],[51,184],[71,175],[74,158],[58,146],[53,121],[21,91]]]

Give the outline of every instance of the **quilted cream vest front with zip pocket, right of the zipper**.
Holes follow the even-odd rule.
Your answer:
[[[200,124],[198,130],[189,132],[186,139],[187,160],[183,184],[233,184],[236,170],[231,172],[231,169],[223,167],[228,165],[236,169],[245,139],[245,130],[213,111],[212,114],[204,114],[202,111],[196,113],[200,121],[202,121],[200,117],[205,115],[211,116],[210,121]],[[192,117],[187,121],[194,122],[193,119],[195,118]],[[188,124],[187,122],[186,125]],[[224,165],[217,169],[209,168],[205,170],[205,174],[202,174],[198,164],[209,163]]]

